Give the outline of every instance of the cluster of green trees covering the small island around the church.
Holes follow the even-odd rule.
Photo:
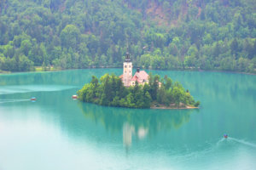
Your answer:
[[[183,107],[200,105],[200,102],[195,102],[189,91],[185,91],[179,82],[173,83],[167,76],[160,78],[152,74],[144,86],[136,82],[135,86],[130,88],[125,88],[121,79],[115,75],[105,74],[100,78],[100,82],[93,76],[91,82],[85,84],[78,94],[79,99],[85,102],[131,108],[159,107],[160,105],[179,107],[181,103]]]

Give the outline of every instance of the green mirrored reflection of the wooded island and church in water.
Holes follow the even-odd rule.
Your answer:
[[[142,140],[154,136],[161,130],[172,131],[189,122],[190,114],[196,110],[152,110],[105,107],[79,102],[84,116],[93,122],[101,122],[110,132],[123,133],[123,144],[129,150],[133,139]]]

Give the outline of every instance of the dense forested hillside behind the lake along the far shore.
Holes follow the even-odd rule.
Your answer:
[[[255,72],[255,0],[0,0],[0,70]]]

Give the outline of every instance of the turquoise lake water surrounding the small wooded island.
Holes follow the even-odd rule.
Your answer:
[[[181,82],[201,101],[199,110],[71,98],[107,72],[122,70],[0,75],[0,169],[256,169],[256,76],[152,71]]]

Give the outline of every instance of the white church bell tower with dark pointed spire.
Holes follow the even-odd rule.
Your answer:
[[[132,62],[130,54],[127,51],[125,55],[125,62],[123,65],[123,82],[125,87],[129,87],[132,79]]]

